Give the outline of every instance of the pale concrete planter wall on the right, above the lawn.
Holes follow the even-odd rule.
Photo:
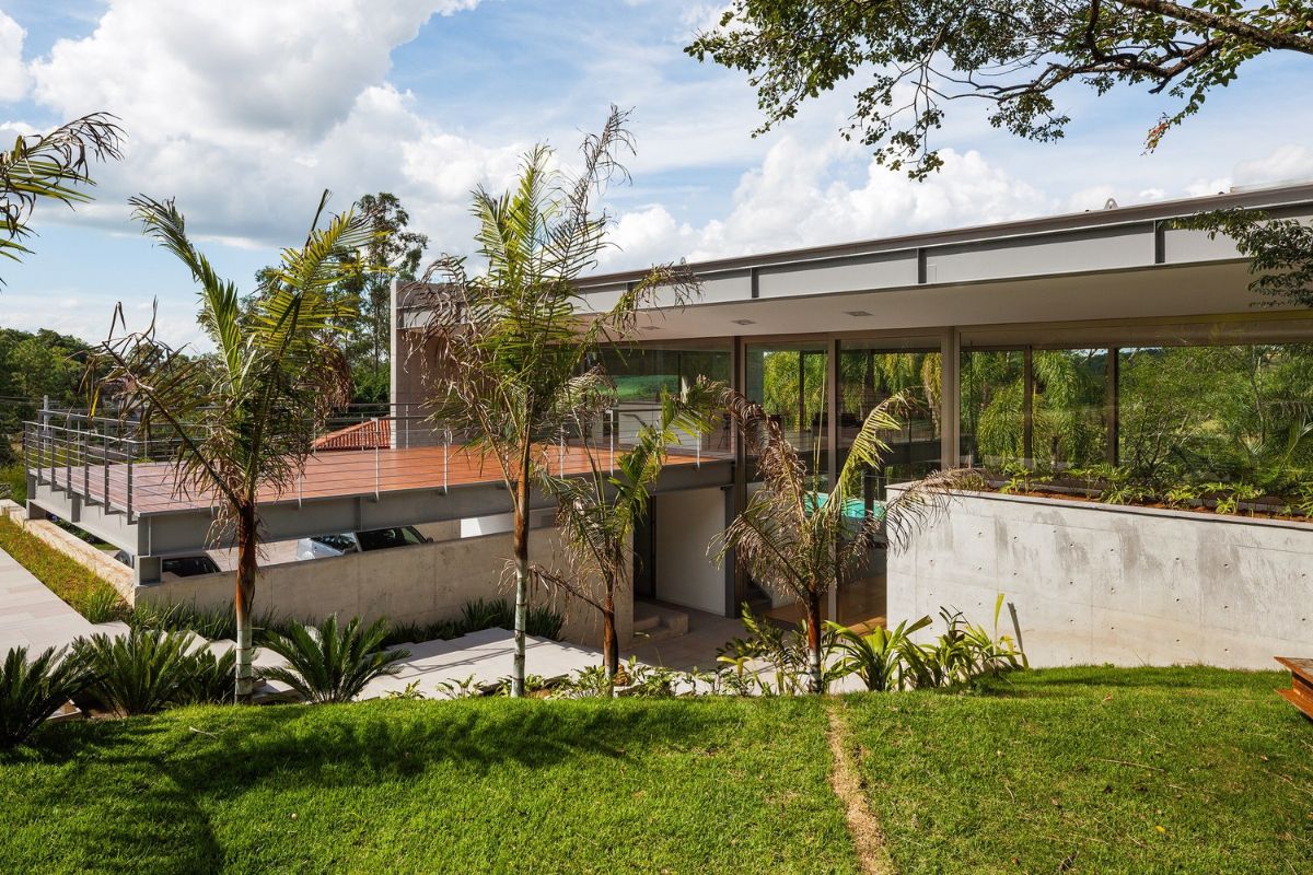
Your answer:
[[[1271,669],[1313,655],[1313,525],[970,493],[889,556],[892,623],[998,593],[1036,666]]]

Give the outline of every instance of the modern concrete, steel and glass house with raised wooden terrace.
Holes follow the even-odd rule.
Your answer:
[[[867,502],[944,467],[979,468],[994,488],[962,495],[909,550],[872,556],[831,600],[840,621],[951,606],[987,622],[1002,593],[1037,664],[1267,666],[1313,651],[1313,314],[1262,306],[1229,240],[1174,223],[1229,207],[1313,216],[1313,185],[692,265],[701,298],[642,316],[641,340],[608,362],[621,400],[591,439],[622,449],[662,388],[706,375],[762,401],[832,478],[865,413],[901,391],[911,412]],[[639,275],[590,277],[582,291],[605,308]],[[398,293],[387,446],[318,454],[264,517],[270,538],[448,529],[419,572],[403,555],[419,548],[382,573],[343,558],[358,568],[340,598],[315,589],[340,589],[328,565],[298,571],[307,603],[428,617],[446,609],[435,593],[448,579],[504,555],[504,491],[419,415],[424,323]],[[160,586],[160,556],[204,546],[207,508],[172,492],[160,466],[134,468],[140,447],[56,420],[30,429],[33,446],[93,449],[55,454],[87,463],[33,467],[33,512],[130,548],[140,589]],[[549,455],[584,463],[578,436]],[[742,442],[726,422],[678,462],[635,538],[635,597],[721,615],[756,601],[786,617],[706,556],[754,488]]]

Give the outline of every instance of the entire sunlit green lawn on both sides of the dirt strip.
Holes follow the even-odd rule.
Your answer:
[[[0,872],[855,872],[834,707],[902,875],[1313,872],[1313,725],[1287,683],[1071,669],[969,695],[55,725],[0,761]]]

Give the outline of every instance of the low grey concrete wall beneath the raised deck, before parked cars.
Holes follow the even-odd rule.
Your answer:
[[[534,533],[529,554],[533,561],[554,564],[559,555],[555,530]],[[307,621],[334,613],[366,621],[387,617],[397,623],[454,619],[467,601],[513,598],[513,581],[506,575],[511,555],[509,535],[488,535],[269,565],[256,584],[255,610]],[[221,573],[147,584],[134,594],[138,601],[225,606],[232,602],[234,586],[234,576]],[[600,622],[587,605],[541,592],[532,602],[551,603],[566,617],[562,631],[567,640],[600,643]],[[633,636],[633,593],[618,593],[616,609],[625,644]]]

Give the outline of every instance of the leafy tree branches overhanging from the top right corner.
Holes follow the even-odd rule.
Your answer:
[[[931,136],[951,101],[983,101],[995,127],[1052,140],[1070,121],[1058,108],[1069,83],[1173,97],[1146,135],[1153,148],[1245,62],[1272,51],[1313,55],[1313,3],[733,0],[687,51],[750,73],[762,131],[860,77],[843,135],[923,177],[941,165]]]

